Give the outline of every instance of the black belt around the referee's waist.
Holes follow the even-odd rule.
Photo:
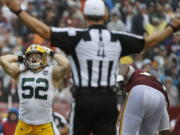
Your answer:
[[[113,94],[114,86],[107,87],[74,87],[75,94]]]

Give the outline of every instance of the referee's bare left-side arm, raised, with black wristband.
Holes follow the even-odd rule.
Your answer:
[[[20,0],[3,0],[3,2],[12,12],[18,14],[18,17],[27,27],[38,33],[43,38],[50,39],[50,27],[35,17],[29,15],[27,12],[22,11]]]

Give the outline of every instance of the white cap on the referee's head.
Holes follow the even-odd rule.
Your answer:
[[[86,0],[84,14],[89,16],[104,16],[105,5],[103,0]]]

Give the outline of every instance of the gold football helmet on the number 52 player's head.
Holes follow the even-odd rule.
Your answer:
[[[30,45],[25,52],[27,66],[30,70],[37,71],[47,66],[47,54],[43,46]]]

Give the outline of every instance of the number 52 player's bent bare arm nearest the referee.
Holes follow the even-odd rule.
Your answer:
[[[57,62],[57,65],[53,68],[53,82],[59,84],[60,79],[63,78],[69,71],[70,65],[68,59],[60,54],[54,54],[54,60]],[[57,86],[57,85],[56,85]]]

